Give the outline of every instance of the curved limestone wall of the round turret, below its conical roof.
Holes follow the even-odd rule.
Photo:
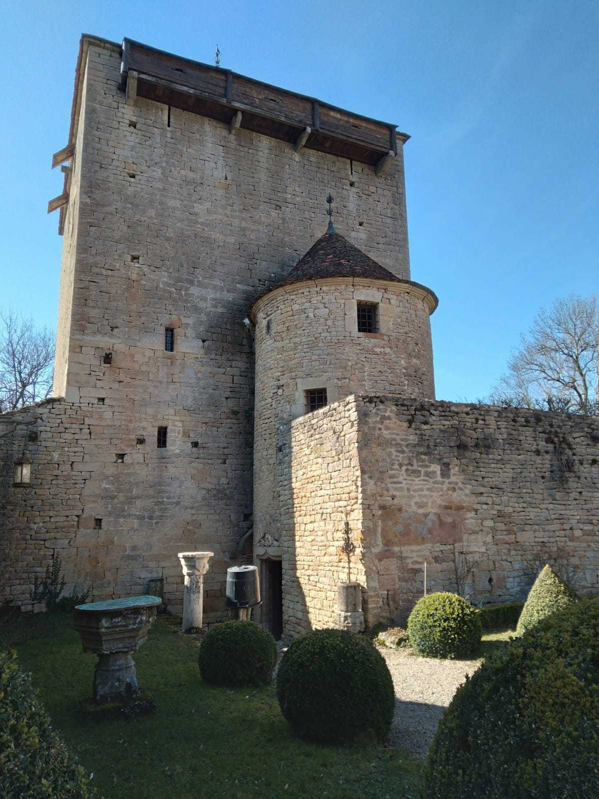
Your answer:
[[[377,333],[358,332],[356,303],[378,304]],[[358,392],[434,397],[432,300],[407,284],[340,278],[267,294],[256,318],[254,539],[278,538],[277,431],[305,413],[304,394],[334,403]]]

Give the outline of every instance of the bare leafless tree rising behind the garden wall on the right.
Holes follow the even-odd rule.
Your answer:
[[[597,297],[570,295],[541,309],[494,388],[491,402],[567,413],[599,413]]]

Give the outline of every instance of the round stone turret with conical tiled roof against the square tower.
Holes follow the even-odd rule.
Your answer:
[[[284,523],[282,483],[294,453],[285,441],[292,419],[352,394],[434,400],[430,289],[396,276],[332,224],[280,284],[252,304],[256,324],[254,541],[262,561],[266,615],[280,579],[288,628],[298,582],[296,527]],[[339,447],[339,462],[347,457]],[[312,569],[319,571],[315,541]],[[282,559],[281,573],[275,563]],[[325,578],[326,579],[326,578]],[[301,578],[300,578],[301,582]],[[331,586],[331,588],[334,586]],[[302,593],[307,590],[302,588]],[[301,627],[305,618],[296,618]],[[276,633],[276,625],[272,625]]]

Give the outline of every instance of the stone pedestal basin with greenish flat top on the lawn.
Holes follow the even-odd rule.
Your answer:
[[[148,638],[160,603],[159,597],[139,596],[75,608],[73,627],[81,635],[83,651],[97,654],[93,674],[97,705],[131,702],[140,693],[133,652]]]

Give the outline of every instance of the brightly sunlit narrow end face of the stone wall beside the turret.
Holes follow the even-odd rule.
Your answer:
[[[337,583],[347,582],[340,552],[345,521],[356,545],[351,581],[366,585],[361,556],[355,398],[296,419],[280,434],[284,630],[337,624]]]

